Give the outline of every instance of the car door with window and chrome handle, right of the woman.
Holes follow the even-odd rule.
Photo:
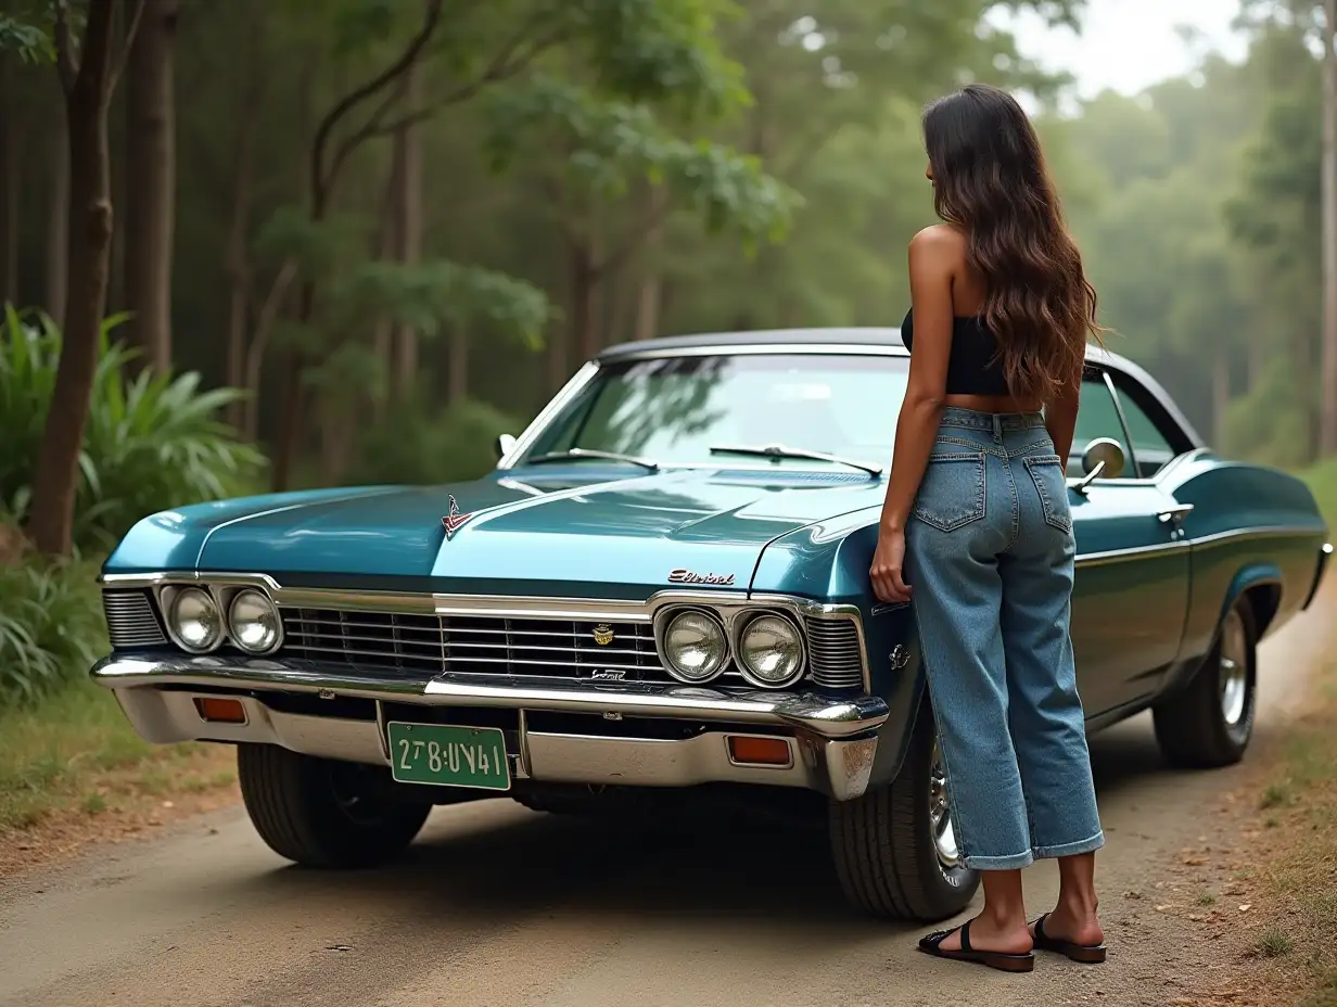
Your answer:
[[[1087,717],[1154,691],[1178,654],[1189,606],[1189,548],[1177,526],[1182,508],[1154,479],[1174,451],[1167,439],[1157,443],[1157,428],[1140,411],[1130,436],[1132,409],[1136,404],[1119,395],[1103,368],[1091,369],[1068,459],[1078,547],[1072,646]],[[1119,443],[1123,472],[1086,476],[1082,456],[1096,437]]]

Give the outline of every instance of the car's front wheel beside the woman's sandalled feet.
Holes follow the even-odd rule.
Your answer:
[[[853,801],[832,801],[830,843],[845,897],[874,916],[935,923],[975,897],[979,873],[960,863],[947,777],[925,699],[901,772]]]

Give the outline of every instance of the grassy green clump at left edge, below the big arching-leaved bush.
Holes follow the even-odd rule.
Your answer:
[[[0,564],[0,706],[49,695],[106,649],[96,572],[92,563]]]

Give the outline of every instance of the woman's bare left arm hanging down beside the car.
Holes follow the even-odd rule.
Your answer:
[[[909,385],[896,421],[892,475],[882,503],[882,520],[873,554],[873,592],[884,602],[908,602],[910,590],[901,567],[905,559],[905,522],[928,467],[943,417],[947,362],[952,353],[952,279],[961,262],[961,238],[943,226],[920,231],[910,241],[910,302],[915,345]]]

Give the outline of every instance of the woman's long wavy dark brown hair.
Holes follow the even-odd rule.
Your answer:
[[[1102,328],[1040,139],[1009,94],[971,84],[925,108],[924,143],[933,209],[969,238],[1008,389],[1050,403],[1078,380]]]

